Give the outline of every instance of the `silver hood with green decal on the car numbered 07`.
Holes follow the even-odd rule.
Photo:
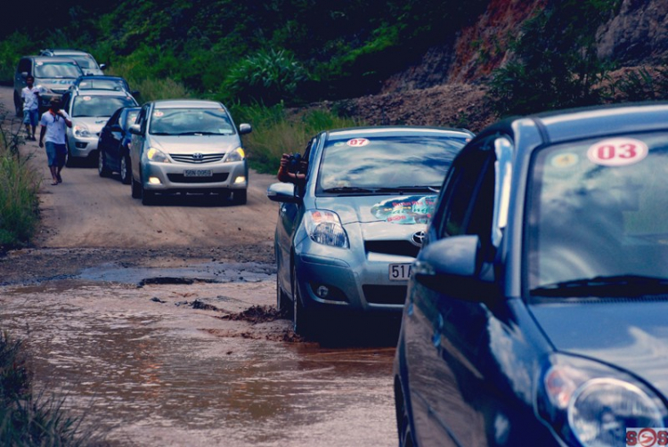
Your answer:
[[[318,197],[316,207],[329,209],[346,223],[427,223],[436,206],[434,194]]]

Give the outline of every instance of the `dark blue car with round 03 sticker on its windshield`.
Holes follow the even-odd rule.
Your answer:
[[[412,266],[400,445],[639,445],[667,427],[666,170],[665,103],[509,118],[468,143]]]

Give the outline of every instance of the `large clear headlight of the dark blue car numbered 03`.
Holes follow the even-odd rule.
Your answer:
[[[668,415],[639,380],[579,357],[552,355],[536,389],[538,414],[569,445],[625,445],[626,428],[664,427]]]

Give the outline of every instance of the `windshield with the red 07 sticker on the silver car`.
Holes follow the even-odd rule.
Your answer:
[[[318,194],[436,191],[468,134],[349,134],[327,142]]]

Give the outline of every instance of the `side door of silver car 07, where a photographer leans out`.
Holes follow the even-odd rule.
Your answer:
[[[302,156],[306,160],[311,157],[311,154],[314,153],[314,146],[317,145],[318,138],[312,138],[307,144]],[[309,164],[310,170],[310,164]],[[296,193],[303,197],[305,187],[304,185],[295,186]],[[276,225],[276,241],[278,246],[278,253],[276,253],[276,262],[277,262],[277,274],[281,280],[281,286],[289,290],[289,285],[291,284],[291,264],[290,256],[292,256],[292,240],[294,234],[297,231],[297,226],[301,219],[301,215],[304,215],[303,208],[304,204],[300,203],[286,203],[281,202],[279,206],[279,216],[278,224]]]

